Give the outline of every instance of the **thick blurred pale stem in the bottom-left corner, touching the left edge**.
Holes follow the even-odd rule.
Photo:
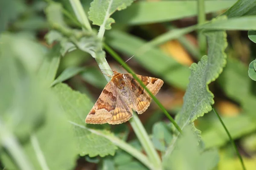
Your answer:
[[[33,170],[32,165],[27,159],[26,154],[23,152],[20,143],[17,141],[16,137],[8,130],[8,128],[0,120],[0,140],[3,147],[9,152],[12,158],[15,160],[16,164],[20,170]]]

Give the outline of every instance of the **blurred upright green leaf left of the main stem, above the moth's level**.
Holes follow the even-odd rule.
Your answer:
[[[38,77],[47,87],[50,87],[56,76],[60,63],[60,55],[60,45],[54,45],[41,63],[38,71]]]

